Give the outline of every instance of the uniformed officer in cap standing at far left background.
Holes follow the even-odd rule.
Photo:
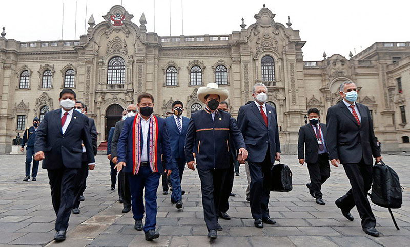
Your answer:
[[[24,131],[22,143],[22,148],[20,151],[24,151],[24,146],[27,144],[26,150],[26,177],[23,181],[28,181],[30,179],[30,168],[31,168],[31,161],[33,160],[34,156],[34,141],[35,141],[35,134],[37,132],[38,125],[40,124],[40,120],[37,117],[33,119],[33,126],[28,127],[26,131]],[[38,172],[38,164],[40,162],[34,160],[33,161],[33,170],[31,171],[31,181],[36,181],[37,172]]]

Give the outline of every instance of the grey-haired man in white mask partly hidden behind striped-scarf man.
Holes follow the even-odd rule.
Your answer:
[[[126,120],[127,118],[132,118],[136,114],[137,106],[134,104],[130,104],[127,106],[127,109],[125,110],[125,116],[122,116],[122,120],[115,123],[115,129],[111,140],[111,157],[112,162],[115,165],[118,163],[118,139],[121,134],[122,127],[124,127],[124,120]],[[123,206],[122,213],[128,213],[131,210],[131,191],[130,183],[128,182],[128,175],[123,170],[120,170],[118,172],[118,187],[121,187],[121,194],[118,200],[120,203],[122,203]]]

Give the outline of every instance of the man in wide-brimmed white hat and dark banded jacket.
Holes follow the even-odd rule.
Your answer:
[[[208,83],[198,89],[197,98],[206,108],[192,114],[185,141],[188,168],[198,169],[201,180],[203,216],[208,228],[208,238],[218,237],[222,227],[218,223],[219,197],[222,178],[229,168],[231,137],[239,149],[241,161],[247,158],[245,142],[234,119],[225,111],[218,110],[219,102],[228,98],[228,91],[218,84]],[[196,156],[196,162],[194,155]]]

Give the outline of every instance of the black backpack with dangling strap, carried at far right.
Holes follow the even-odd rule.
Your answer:
[[[391,210],[401,208],[402,204],[402,187],[400,186],[399,176],[383,161],[380,161],[380,163],[376,162],[373,166],[373,184],[370,199],[374,204],[388,208],[396,229],[400,230]]]

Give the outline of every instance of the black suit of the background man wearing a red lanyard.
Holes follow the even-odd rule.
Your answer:
[[[321,140],[327,147],[326,124],[319,123],[320,130],[323,133]],[[298,138],[298,158],[304,159],[308,163],[309,177],[311,179],[310,187],[316,198],[322,198],[323,194],[320,191],[322,184],[330,177],[329,156],[327,152],[319,154],[319,144],[317,142],[317,134],[315,133],[312,124],[308,123],[299,129]],[[306,147],[303,157],[303,149]]]

